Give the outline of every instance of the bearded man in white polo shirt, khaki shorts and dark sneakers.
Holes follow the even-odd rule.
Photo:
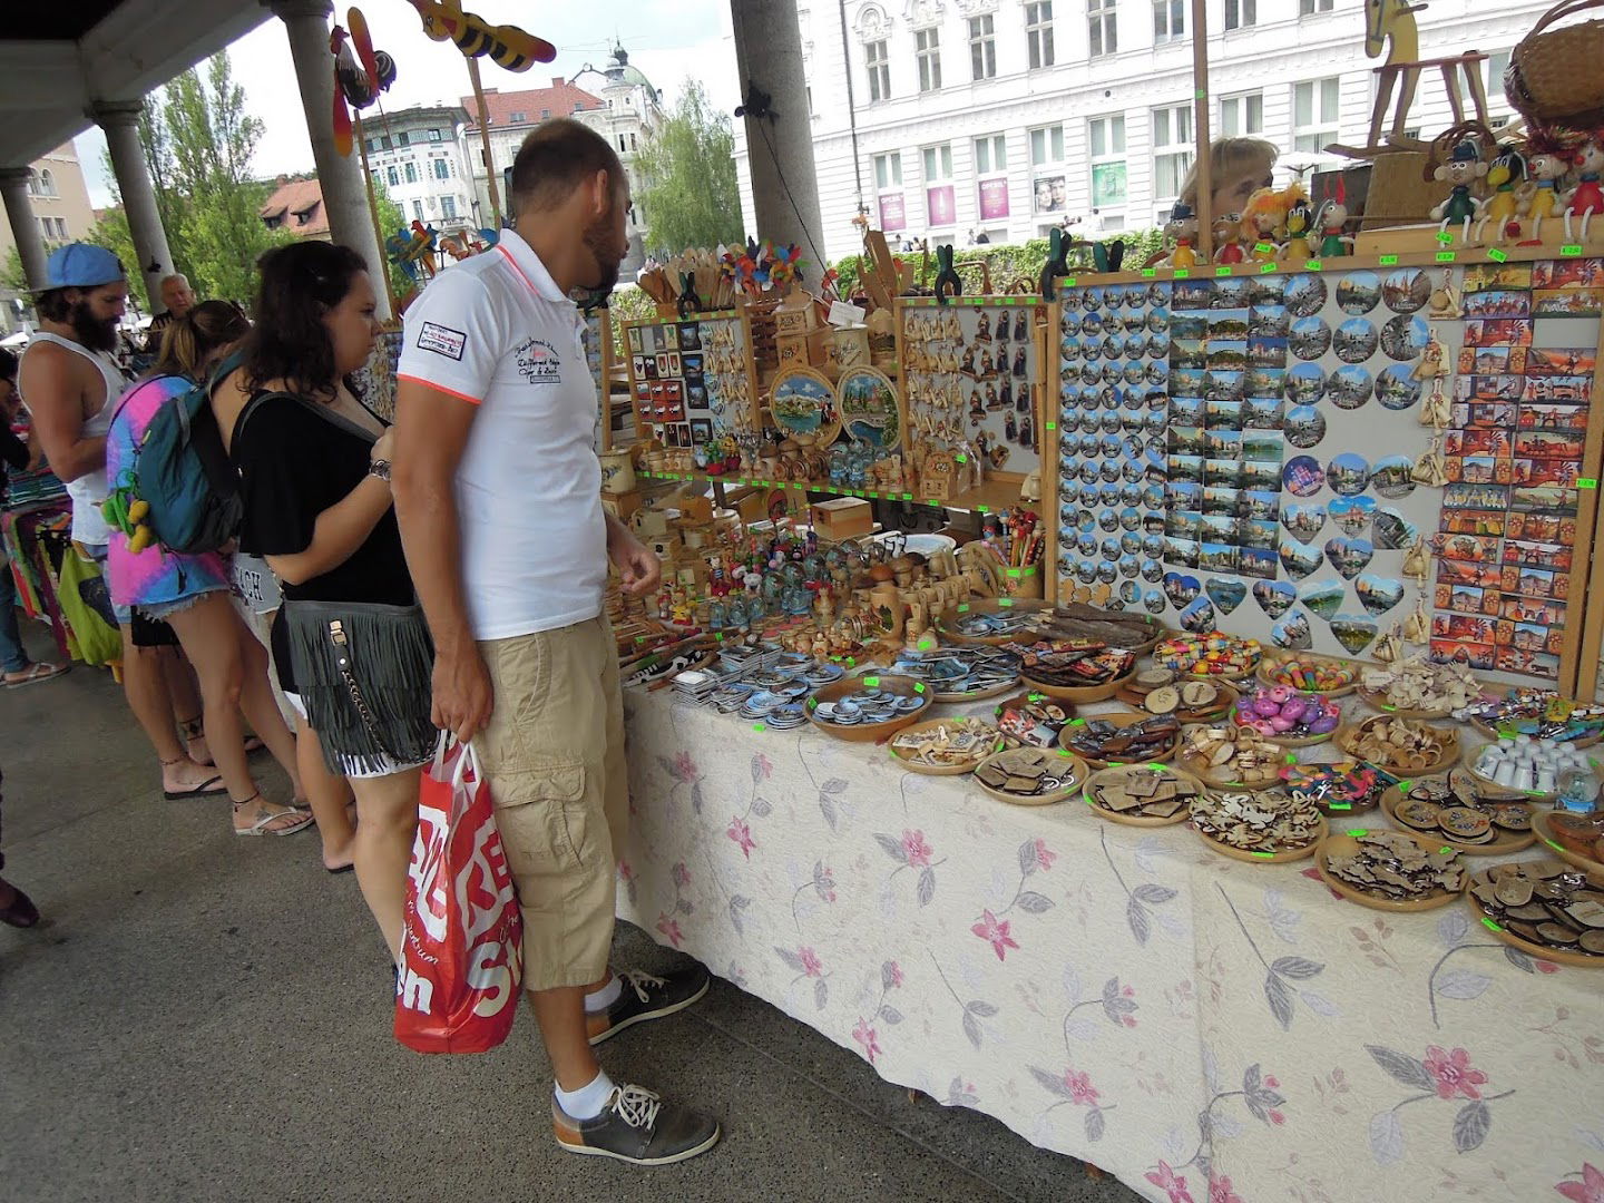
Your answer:
[[[513,162],[515,229],[406,314],[393,492],[435,637],[435,723],[476,736],[523,909],[523,985],[557,1076],[557,1140],[637,1165],[711,1148],[719,1124],[614,1086],[592,1046],[707,993],[699,966],[613,975],[629,821],[624,703],[602,606],[661,565],[602,510],[598,399],[568,294],[611,289],[629,180],[606,140],[542,124]]]

